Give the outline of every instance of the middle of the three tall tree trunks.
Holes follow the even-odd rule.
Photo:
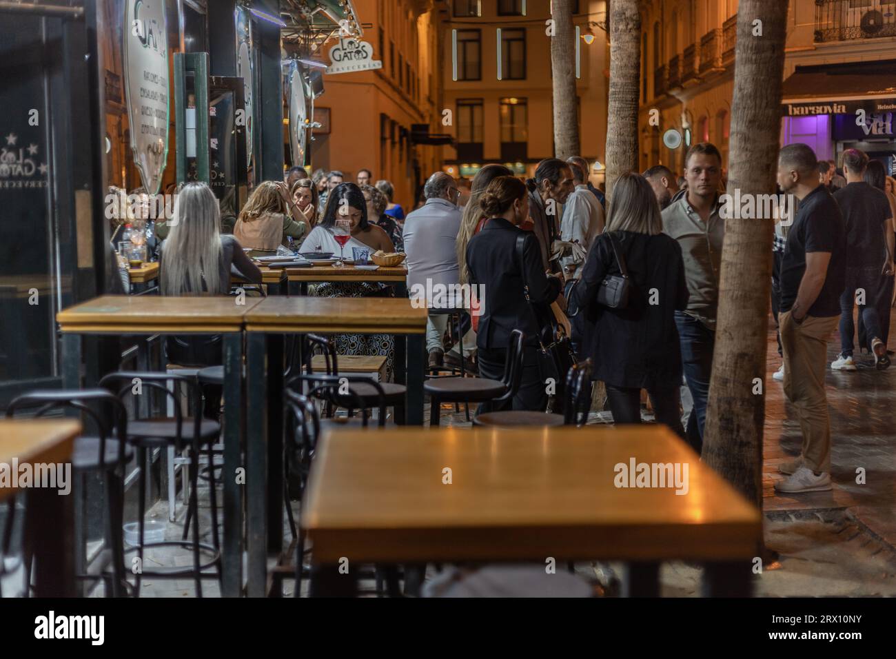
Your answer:
[[[641,69],[638,0],[613,0],[610,3],[609,32],[607,196],[612,194],[616,178],[638,169],[638,72]]]

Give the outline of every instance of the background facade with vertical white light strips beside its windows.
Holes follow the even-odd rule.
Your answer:
[[[576,26],[577,99],[582,156],[602,163],[607,142],[606,2],[579,0]],[[500,162],[530,176],[554,155],[547,0],[451,0],[444,22],[444,171],[470,178]],[[592,181],[603,179],[601,166]]]

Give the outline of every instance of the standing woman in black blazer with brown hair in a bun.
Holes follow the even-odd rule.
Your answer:
[[[513,410],[544,412],[547,408],[547,386],[538,369],[538,320],[549,314],[548,305],[563,289],[562,275],[545,273],[541,263],[538,238],[519,229],[529,214],[526,186],[513,177],[495,178],[479,200],[485,226],[467,246],[468,281],[474,290],[485,290],[479,300],[476,343],[479,376],[500,380],[504,376],[504,362],[513,330],[525,334],[523,368],[520,390],[513,398]],[[517,238],[523,237],[522,254],[517,249]],[[526,301],[523,286],[529,286],[530,302]],[[480,289],[479,286],[482,288]],[[480,412],[498,408],[484,406]],[[510,409],[504,404],[501,409]]]

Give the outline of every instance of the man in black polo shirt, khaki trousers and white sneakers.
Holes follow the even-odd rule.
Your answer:
[[[819,183],[818,160],[806,144],[780,151],[778,184],[799,200],[780,273],[784,394],[797,410],[803,448],[779,465],[781,492],[831,490],[831,422],[824,393],[827,342],[840,316],[845,286],[845,228],[840,208]]]

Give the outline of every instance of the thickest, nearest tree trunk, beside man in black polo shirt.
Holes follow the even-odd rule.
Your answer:
[[[788,0],[741,0],[737,11],[728,194],[742,199],[775,192],[787,13]],[[726,220],[702,454],[760,508],[773,232],[772,218]]]

